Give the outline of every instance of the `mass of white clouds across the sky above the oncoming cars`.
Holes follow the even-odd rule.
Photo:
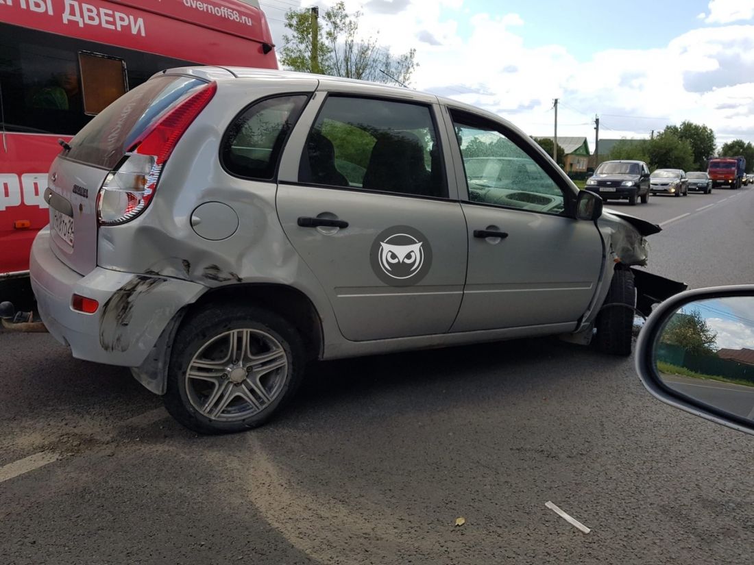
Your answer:
[[[712,0],[708,21],[754,11],[754,0],[731,2]],[[362,2],[346,0],[346,8]],[[602,138],[648,137],[689,120],[713,128],[718,145],[754,141],[754,25],[691,29],[661,48],[602,50],[579,61],[561,45],[526,44],[522,32],[536,24],[518,14],[467,15],[461,0],[413,0],[398,16],[363,9],[365,36],[393,53],[416,48],[413,87],[479,105],[527,133],[551,135],[559,98],[559,135],[587,136],[590,146],[595,114]]]

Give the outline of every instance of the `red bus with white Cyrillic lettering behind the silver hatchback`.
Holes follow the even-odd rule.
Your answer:
[[[155,72],[196,64],[277,69],[256,0],[0,0],[0,280],[29,271],[58,139]]]

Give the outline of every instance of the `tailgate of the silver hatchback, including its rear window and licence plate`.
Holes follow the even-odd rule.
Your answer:
[[[70,150],[61,151],[44,193],[51,246],[60,261],[81,274],[97,266],[97,193],[106,176],[139,135],[204,84],[185,76],[153,78],[100,112],[69,142]]]

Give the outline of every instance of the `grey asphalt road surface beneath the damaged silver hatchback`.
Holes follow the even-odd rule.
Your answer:
[[[688,212],[651,237],[654,272],[754,282],[754,191],[610,207]],[[754,554],[754,438],[655,401],[632,359],[538,339],[319,363],[277,420],[225,437],[46,334],[0,334],[0,359],[0,563]]]

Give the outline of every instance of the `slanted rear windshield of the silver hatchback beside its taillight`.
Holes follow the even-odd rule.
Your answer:
[[[71,140],[66,157],[112,169],[167,108],[205,83],[196,78],[152,78],[112,102]]]

